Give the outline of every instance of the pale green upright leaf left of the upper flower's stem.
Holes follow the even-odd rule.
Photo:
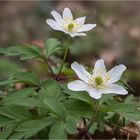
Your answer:
[[[46,40],[45,43],[46,47],[46,57],[49,57],[52,53],[62,49],[60,45],[60,41],[58,41],[56,38],[49,38]]]

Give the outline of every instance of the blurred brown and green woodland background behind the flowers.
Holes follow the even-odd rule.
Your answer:
[[[62,12],[69,7],[75,18],[86,15],[87,23],[97,26],[86,37],[72,39],[67,62],[74,60],[91,66],[103,58],[108,68],[123,63],[127,66],[125,77],[139,95],[140,90],[140,2],[121,1],[1,1],[0,47],[17,44],[44,46],[48,37],[64,39],[61,32],[52,30],[46,19],[51,11]],[[0,80],[17,69],[34,69],[45,73],[37,62],[21,62],[17,57],[0,56]]]

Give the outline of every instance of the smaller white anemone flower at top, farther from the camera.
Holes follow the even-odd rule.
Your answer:
[[[51,12],[53,19],[47,19],[46,23],[54,30],[62,31],[69,34],[71,37],[85,36],[83,32],[89,31],[96,26],[96,24],[85,24],[86,17],[73,19],[73,15],[69,8],[63,10],[62,16],[56,12]]]

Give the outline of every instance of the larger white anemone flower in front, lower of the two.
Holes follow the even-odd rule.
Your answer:
[[[115,84],[120,80],[126,66],[118,65],[106,72],[104,60],[96,61],[92,74],[77,62],[72,63],[71,68],[75,71],[80,80],[68,83],[68,88],[73,91],[87,91],[94,99],[101,98],[102,94],[127,94],[127,90]]]

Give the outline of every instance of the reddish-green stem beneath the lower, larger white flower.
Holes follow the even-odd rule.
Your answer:
[[[89,125],[86,128],[86,132],[88,132],[88,130],[92,126],[93,122],[96,120],[98,112],[99,112],[99,108],[100,108],[100,100],[97,103],[97,109],[96,109],[95,115],[91,118],[91,121],[90,121]]]

